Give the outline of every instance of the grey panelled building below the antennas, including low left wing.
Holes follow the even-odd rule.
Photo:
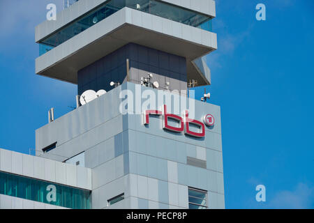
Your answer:
[[[36,130],[36,156],[0,149],[1,208],[225,208],[222,154],[220,107],[128,82]]]

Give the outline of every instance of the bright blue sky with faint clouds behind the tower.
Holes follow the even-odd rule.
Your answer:
[[[75,107],[75,85],[34,72],[34,27],[47,3],[63,7],[0,1],[0,148],[29,153],[48,109],[58,117]],[[266,21],[255,20],[257,3]],[[221,106],[226,208],[314,208],[314,1],[217,0],[216,13],[207,91]]]

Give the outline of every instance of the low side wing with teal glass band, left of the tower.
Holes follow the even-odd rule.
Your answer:
[[[0,149],[0,208],[91,208],[91,169]]]

